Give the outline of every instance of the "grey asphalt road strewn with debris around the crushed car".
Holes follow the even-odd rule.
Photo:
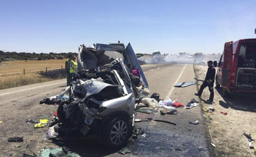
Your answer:
[[[174,88],[177,82],[194,81],[194,69],[191,64],[160,64],[142,67],[149,83],[151,93],[159,93],[161,99],[171,98],[182,104],[187,104],[197,92],[197,85],[185,88]],[[66,87],[65,79],[16,88],[0,90],[0,152],[3,156],[23,156],[23,153],[38,153],[45,147],[62,146],[50,140],[43,141],[41,137],[48,128],[34,129],[33,124],[27,124],[25,119],[40,119],[53,117],[57,106],[39,104],[42,98],[59,94]],[[87,139],[73,141],[68,144],[71,149],[82,157],[124,156],[124,157],[209,157],[211,147],[203,120],[200,106],[192,109],[178,108],[178,115],[145,115],[138,113],[137,117],[146,119],[163,119],[177,125],[162,122],[136,123],[146,137],[141,137],[131,143],[131,153],[120,155],[117,150],[109,150],[95,140]],[[188,124],[189,121],[199,120],[198,125]],[[23,136],[24,142],[7,142],[8,137]],[[198,150],[202,147],[203,151]]]

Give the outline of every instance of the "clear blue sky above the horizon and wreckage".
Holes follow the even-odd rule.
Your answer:
[[[78,52],[129,42],[136,53],[221,53],[256,38],[256,0],[1,0],[0,50]]]

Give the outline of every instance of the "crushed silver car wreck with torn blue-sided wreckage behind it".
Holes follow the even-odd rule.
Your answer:
[[[137,76],[131,73],[134,69]],[[80,45],[78,73],[70,87],[55,96],[68,99],[59,103],[60,123],[48,134],[91,136],[107,147],[121,147],[131,135],[137,103],[149,92],[130,43],[126,48],[120,43]]]

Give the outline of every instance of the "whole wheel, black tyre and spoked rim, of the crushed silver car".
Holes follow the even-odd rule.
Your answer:
[[[130,137],[131,124],[127,117],[112,117],[101,128],[101,142],[109,148],[121,148]]]

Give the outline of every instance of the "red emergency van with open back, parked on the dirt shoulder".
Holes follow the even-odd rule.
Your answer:
[[[256,94],[256,39],[226,42],[217,67],[216,87],[224,97],[230,94]]]

